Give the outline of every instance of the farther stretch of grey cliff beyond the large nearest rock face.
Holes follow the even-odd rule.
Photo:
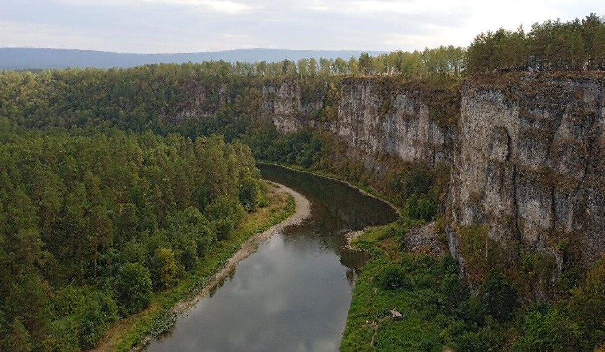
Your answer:
[[[338,135],[364,154],[450,164],[455,129],[430,118],[431,108],[425,100],[434,90],[355,77],[342,79],[336,88],[340,97],[334,107],[338,109],[336,119],[313,120],[311,115],[323,107],[323,99],[301,103],[301,88],[291,81],[263,88],[263,114],[280,132],[313,127]]]

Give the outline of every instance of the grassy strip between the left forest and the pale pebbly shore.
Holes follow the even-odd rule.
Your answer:
[[[181,279],[175,287],[155,292],[151,304],[145,310],[116,322],[97,350],[127,351],[137,346],[148,334],[155,336],[167,330],[174,322],[174,315],[169,313],[170,308],[181,299],[195,296],[250,236],[280,223],[296,210],[294,198],[290,194],[269,192],[267,198],[269,206],[247,214],[230,240],[218,242],[205,258],[200,259],[194,273]]]

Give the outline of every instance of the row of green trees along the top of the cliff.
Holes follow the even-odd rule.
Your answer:
[[[250,65],[253,69],[254,64]],[[581,71],[605,70],[605,17],[590,13],[584,19],[536,22],[526,33],[499,28],[475,37],[468,48],[438,47],[423,51],[393,51],[345,61],[320,59],[283,62],[282,73],[315,74],[401,74],[407,79],[456,78],[464,74],[494,71]]]

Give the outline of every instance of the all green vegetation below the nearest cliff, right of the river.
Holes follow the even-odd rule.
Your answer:
[[[450,255],[408,252],[405,237],[422,223],[402,217],[354,241],[371,259],[353,290],[341,351],[589,352],[605,347],[605,258],[560,301],[534,303],[523,299],[523,288],[505,275],[507,268],[487,266],[485,281],[471,290]],[[481,240],[484,231],[469,227],[465,233]],[[393,308],[401,320],[391,319]]]

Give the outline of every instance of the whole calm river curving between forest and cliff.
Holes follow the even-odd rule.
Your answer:
[[[307,197],[311,216],[261,243],[211,295],[183,312],[155,351],[337,351],[355,281],[367,257],[344,233],[396,213],[347,184],[279,166],[266,180]]]

